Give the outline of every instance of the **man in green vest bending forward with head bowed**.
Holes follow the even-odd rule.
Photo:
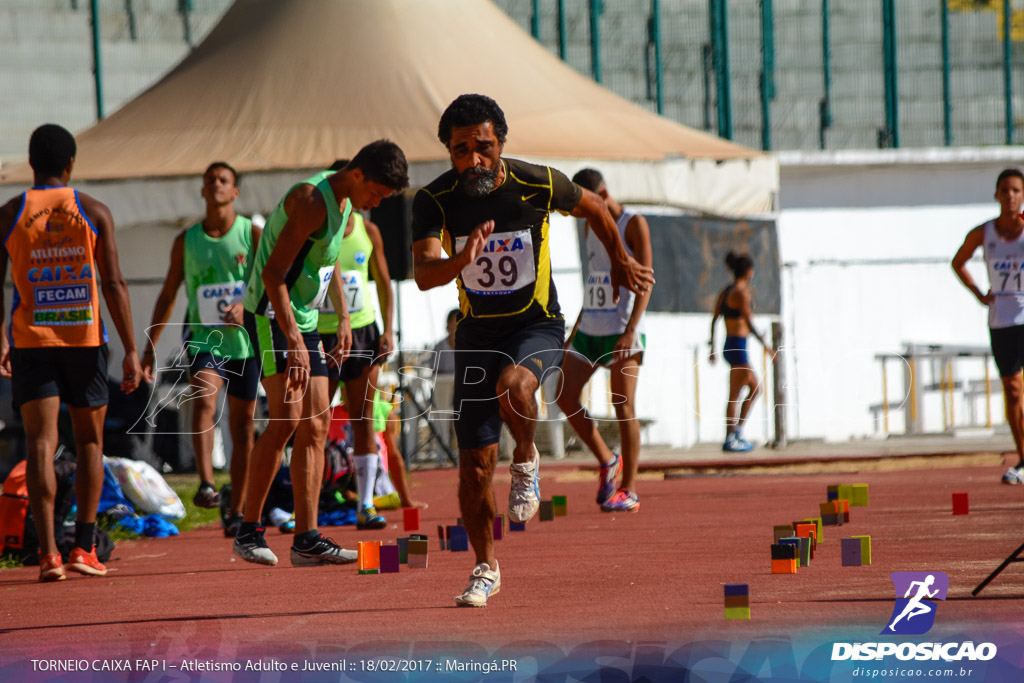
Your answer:
[[[259,358],[270,422],[253,449],[245,519],[234,554],[276,564],[260,526],[263,504],[292,435],[295,495],[295,566],[354,562],[316,528],[329,412],[327,356],[316,331],[318,308],[330,298],[339,312],[338,342],[329,353],[340,362],[351,345],[341,270],[336,267],[345,223],[353,209],[369,210],[409,185],[398,145],[378,140],[335,173],[324,171],[294,185],[271,212],[247,283],[245,326]]]

